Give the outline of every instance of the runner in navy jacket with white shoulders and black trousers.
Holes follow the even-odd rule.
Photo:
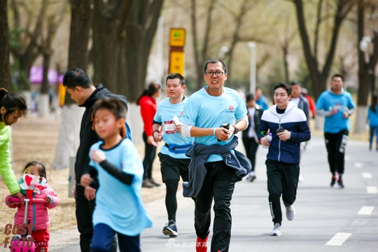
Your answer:
[[[274,87],[274,103],[262,113],[258,130],[258,139],[263,146],[269,146],[267,153],[267,188],[269,207],[274,228],[270,235],[281,235],[281,203],[286,207],[286,218],[294,218],[293,203],[297,194],[298,176],[300,172],[300,143],[309,141],[311,133],[307,118],[291,99],[291,87],[279,83]],[[279,130],[281,128],[281,130]],[[277,132],[278,130],[278,132]],[[280,132],[281,131],[281,132]],[[270,143],[265,135],[272,133]]]

